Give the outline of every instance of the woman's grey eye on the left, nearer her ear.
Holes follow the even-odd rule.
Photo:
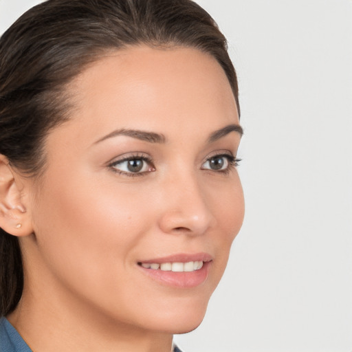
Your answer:
[[[151,159],[137,155],[117,160],[109,166],[115,172],[128,176],[143,175],[143,173],[155,170],[151,164]]]

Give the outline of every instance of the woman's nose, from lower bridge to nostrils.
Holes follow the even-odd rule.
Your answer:
[[[159,228],[170,234],[204,234],[215,225],[210,199],[196,177],[174,177],[165,181]]]

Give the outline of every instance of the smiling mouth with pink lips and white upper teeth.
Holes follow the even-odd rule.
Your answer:
[[[209,254],[175,254],[159,259],[140,261],[137,265],[153,281],[164,285],[191,288],[208,278],[212,257]]]

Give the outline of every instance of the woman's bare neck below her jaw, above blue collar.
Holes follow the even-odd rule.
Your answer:
[[[171,333],[120,322],[84,302],[66,299],[63,305],[63,300],[50,298],[36,299],[25,287],[17,309],[7,317],[32,351],[171,351]]]

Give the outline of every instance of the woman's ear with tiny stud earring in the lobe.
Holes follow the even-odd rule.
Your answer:
[[[0,154],[0,228],[14,236],[32,233],[32,221],[21,201],[21,186],[8,159]]]

